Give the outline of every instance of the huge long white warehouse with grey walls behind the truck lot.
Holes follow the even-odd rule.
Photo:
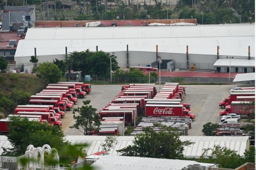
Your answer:
[[[250,62],[254,63],[254,30],[254,24],[29,28],[17,45],[15,61],[21,67],[36,51],[39,62],[52,62],[55,58],[65,59],[66,47],[68,54],[96,51],[98,46],[99,51],[114,52],[121,68],[151,65],[158,55],[174,60],[175,68],[191,68],[195,63],[197,69],[214,69],[218,59],[247,60],[248,46]]]

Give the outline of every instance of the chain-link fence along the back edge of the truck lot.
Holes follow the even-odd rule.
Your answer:
[[[180,82],[180,83],[205,83],[205,84],[233,84],[234,78],[209,78],[209,77],[161,77],[161,83]],[[82,80],[84,81],[84,79]],[[128,84],[128,83],[148,83],[148,77],[98,77],[91,76],[93,84]],[[159,77],[150,77],[151,83],[159,83]]]

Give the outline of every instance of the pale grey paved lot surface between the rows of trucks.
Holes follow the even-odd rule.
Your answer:
[[[156,85],[159,91],[159,85]],[[195,114],[195,121],[192,123],[192,129],[189,130],[189,136],[203,135],[201,132],[203,125],[207,122],[218,123],[220,121],[218,102],[228,96],[231,85],[185,85],[186,96],[182,102],[188,102],[191,105],[191,111]],[[98,111],[105,107],[108,102],[121,91],[121,85],[92,85],[92,92],[84,99],[78,99],[75,108],[83,105],[83,100],[90,100],[90,105]],[[69,126],[75,122],[72,111],[66,112],[62,121],[62,129],[65,135],[83,135],[77,129],[70,129]]]

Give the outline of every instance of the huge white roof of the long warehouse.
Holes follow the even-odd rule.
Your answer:
[[[99,50],[156,51],[166,53],[255,56],[255,25],[224,24],[199,26],[154,26],[154,27],[80,27],[80,28],[29,28],[25,40],[20,40],[16,57],[34,55],[58,55],[67,52],[84,51],[87,48]]]

